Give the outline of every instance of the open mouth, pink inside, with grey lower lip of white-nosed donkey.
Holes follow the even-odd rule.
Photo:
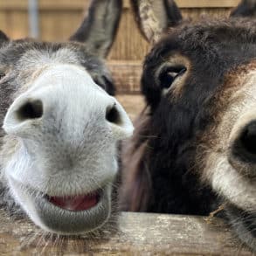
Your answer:
[[[9,183],[13,196],[31,220],[49,232],[63,235],[93,232],[107,222],[112,211],[110,183],[92,192],[81,191],[78,196],[50,196],[12,177]]]

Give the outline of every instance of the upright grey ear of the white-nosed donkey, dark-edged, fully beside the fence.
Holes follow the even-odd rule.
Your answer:
[[[106,58],[121,17],[121,0],[92,0],[80,28],[70,38],[84,42],[90,52]]]

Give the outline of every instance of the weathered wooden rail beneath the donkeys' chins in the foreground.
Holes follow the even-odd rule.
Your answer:
[[[221,219],[122,213],[120,231],[104,239],[36,239],[34,225],[0,211],[0,255],[253,255]]]

